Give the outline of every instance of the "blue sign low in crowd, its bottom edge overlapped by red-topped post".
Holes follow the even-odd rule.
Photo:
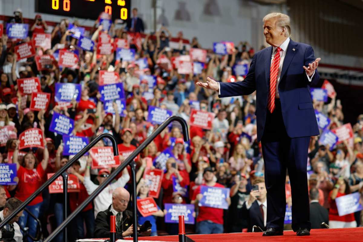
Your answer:
[[[165,222],[166,223],[179,223],[179,216],[184,215],[184,222],[194,224],[194,205],[193,204],[174,204],[166,203]]]

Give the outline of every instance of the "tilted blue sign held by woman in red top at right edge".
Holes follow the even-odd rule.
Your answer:
[[[359,198],[359,192],[335,198],[339,216],[344,216],[362,210],[362,204],[360,204]]]

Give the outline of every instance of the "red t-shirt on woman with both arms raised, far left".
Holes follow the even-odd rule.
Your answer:
[[[15,197],[21,201],[25,201],[31,194],[33,194],[42,185],[42,177],[45,171],[39,163],[36,169],[28,170],[22,166],[17,171],[19,183],[16,189]],[[40,193],[36,198],[29,203],[29,206],[38,204],[43,201],[42,194]]]

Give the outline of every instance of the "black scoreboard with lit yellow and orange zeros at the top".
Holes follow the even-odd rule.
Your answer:
[[[130,17],[131,0],[36,0],[35,11],[52,15],[96,20],[101,12],[112,19],[127,20]]]

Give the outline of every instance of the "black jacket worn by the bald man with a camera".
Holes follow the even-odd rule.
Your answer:
[[[94,237],[95,238],[109,238],[110,237],[110,216],[111,205],[105,211],[97,214],[95,220]],[[117,230],[117,238],[122,239],[122,233],[125,232],[132,225],[132,212],[125,210],[122,212],[121,231]]]

